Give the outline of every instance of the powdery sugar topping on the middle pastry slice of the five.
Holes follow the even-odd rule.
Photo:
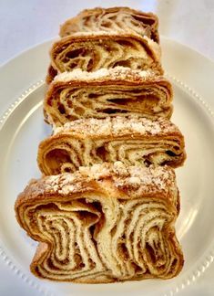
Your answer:
[[[69,72],[63,72],[56,75],[52,83],[69,82],[72,80],[96,80],[96,79],[114,79],[114,80],[147,80],[158,79],[156,73],[150,69],[138,70],[129,69],[127,67],[117,66],[113,69],[98,69],[94,72],[83,71],[82,69],[74,69]]]

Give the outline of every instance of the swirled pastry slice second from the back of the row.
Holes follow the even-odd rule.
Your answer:
[[[130,69],[153,69],[163,74],[160,48],[148,37],[136,34],[97,32],[64,37],[50,50],[51,66],[56,73],[82,69],[88,72],[123,66]],[[53,73],[47,75],[47,82]]]

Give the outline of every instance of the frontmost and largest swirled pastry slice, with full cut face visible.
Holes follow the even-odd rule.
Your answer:
[[[15,202],[17,221],[39,242],[39,278],[107,283],[178,275],[179,196],[168,167],[97,164],[32,181]]]

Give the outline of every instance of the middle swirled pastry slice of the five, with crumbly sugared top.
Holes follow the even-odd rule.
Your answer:
[[[138,114],[170,117],[170,82],[151,70],[124,67],[75,69],[56,76],[44,100],[46,122],[61,126],[81,118]]]

